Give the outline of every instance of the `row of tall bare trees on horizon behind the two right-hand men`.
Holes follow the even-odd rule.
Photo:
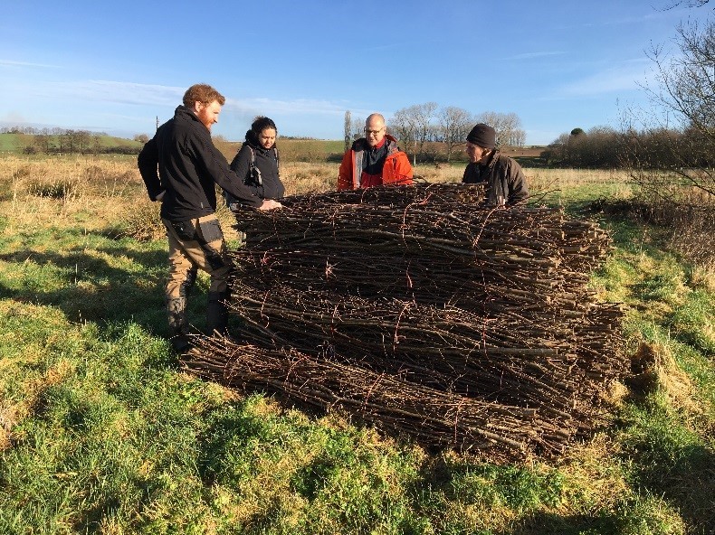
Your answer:
[[[441,143],[446,147],[447,162],[455,150],[464,145],[467,134],[477,123],[486,123],[497,132],[497,145],[523,146],[526,132],[521,127],[521,119],[515,113],[485,111],[480,114],[447,106],[439,108],[436,102],[415,104],[398,109],[387,121],[388,132],[396,136],[405,151],[415,157],[415,162],[434,160],[437,157],[434,146],[425,148],[427,142]],[[364,136],[365,118],[352,117],[345,112],[345,150],[352,141]]]

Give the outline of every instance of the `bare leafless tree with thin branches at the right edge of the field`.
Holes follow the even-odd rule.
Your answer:
[[[652,109],[624,113],[624,162],[644,213],[673,230],[672,247],[713,263],[715,21],[681,24],[674,42],[674,53],[655,46],[648,54],[656,83],[643,89]]]

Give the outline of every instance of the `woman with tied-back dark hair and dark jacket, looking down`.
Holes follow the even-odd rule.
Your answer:
[[[278,128],[272,119],[256,117],[251,129],[246,132],[243,146],[231,162],[235,174],[261,199],[280,199],[285,194],[275,145],[277,133]],[[241,205],[229,193],[225,193],[225,199],[229,207],[238,208]]]

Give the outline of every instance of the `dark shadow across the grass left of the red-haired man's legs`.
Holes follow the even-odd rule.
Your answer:
[[[1,254],[0,260],[9,266],[0,281],[0,297],[56,306],[73,322],[133,321],[148,332],[167,334],[167,252],[131,240],[110,240],[102,231],[82,236],[91,245]],[[108,257],[122,258],[116,264],[126,267],[110,265]],[[204,309],[205,296],[201,288],[195,288],[189,303],[190,321]]]

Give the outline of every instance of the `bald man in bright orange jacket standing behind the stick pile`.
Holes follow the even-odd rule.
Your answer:
[[[385,117],[373,113],[365,121],[365,137],[353,143],[338,172],[338,191],[382,184],[412,184],[412,165],[386,133]]]

